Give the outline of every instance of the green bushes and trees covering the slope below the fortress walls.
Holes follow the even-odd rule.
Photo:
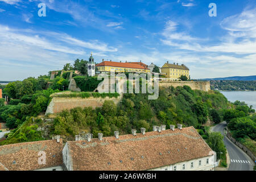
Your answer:
[[[144,127],[146,131],[152,131],[153,125],[162,124],[168,129],[169,125],[177,126],[177,123],[182,123],[184,127],[194,126],[206,139],[208,132],[203,124],[208,118],[216,123],[221,122],[224,111],[231,107],[232,104],[220,92],[192,90],[189,86],[170,86],[160,88],[157,100],[148,100],[147,94],[124,94],[118,105],[113,101],[105,101],[102,108],[76,107],[70,111],[64,110],[52,122],[48,122],[47,136],[44,131],[36,131],[37,127],[44,126],[43,120],[35,119],[33,122],[27,118],[0,144],[26,142],[33,138],[37,140],[40,138],[38,133],[44,139],[61,135],[69,140],[82,131],[90,132],[95,137],[103,133],[106,137],[112,136],[115,130],[122,135],[130,134],[131,129],[139,131]]]

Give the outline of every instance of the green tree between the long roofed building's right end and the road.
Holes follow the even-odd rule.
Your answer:
[[[221,155],[226,155],[226,147],[223,142],[223,135],[219,132],[209,133],[209,137],[206,140],[207,144],[213,151],[217,152],[217,159],[220,159]],[[220,154],[222,153],[222,154]]]

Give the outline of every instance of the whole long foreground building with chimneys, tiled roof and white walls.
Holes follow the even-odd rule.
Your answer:
[[[92,138],[76,135],[63,148],[63,163],[70,171],[214,170],[216,153],[194,127],[154,126],[153,131]]]

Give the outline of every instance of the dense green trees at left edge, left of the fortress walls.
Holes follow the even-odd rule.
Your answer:
[[[10,82],[3,89],[3,93],[9,96],[9,104],[0,100],[0,122],[6,122],[10,129],[22,125],[27,117],[36,117],[46,111],[50,101],[50,95],[59,92],[57,81],[46,90],[49,76],[29,77],[23,81]]]

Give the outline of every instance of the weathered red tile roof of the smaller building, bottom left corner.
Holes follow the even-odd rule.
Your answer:
[[[28,171],[60,166],[63,141],[43,140],[39,142],[15,143],[0,146],[0,171]],[[39,151],[46,152],[46,164],[39,164]]]

